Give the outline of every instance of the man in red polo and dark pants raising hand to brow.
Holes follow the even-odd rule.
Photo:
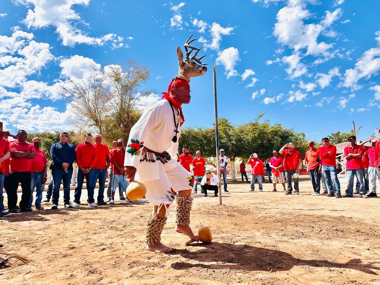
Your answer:
[[[288,149],[285,149],[285,147],[288,147]],[[298,171],[301,165],[301,154],[294,147],[293,142],[290,142],[280,149],[280,154],[284,156],[283,166],[287,184],[287,192],[285,192],[285,195],[291,195],[293,191],[293,187],[291,187],[292,178],[294,180],[294,194],[299,195]]]

